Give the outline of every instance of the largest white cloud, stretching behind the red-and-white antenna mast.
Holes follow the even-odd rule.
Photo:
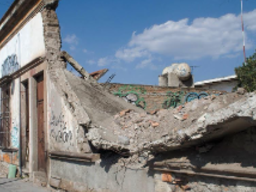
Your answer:
[[[256,31],[256,10],[244,14],[245,29]],[[252,43],[246,36],[246,47]],[[150,66],[151,54],[172,56],[174,59],[199,59],[210,56],[229,57],[242,50],[240,15],[226,14],[219,18],[197,18],[167,21],[132,34],[125,48],[116,52],[116,58],[126,62],[145,58],[137,67]]]

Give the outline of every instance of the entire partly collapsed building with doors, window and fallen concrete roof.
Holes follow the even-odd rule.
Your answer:
[[[14,164],[75,192],[256,191],[255,93],[147,113],[131,104],[143,89],[114,84],[115,96],[95,81],[99,72],[66,69],[58,3],[15,0],[0,20],[1,172]]]

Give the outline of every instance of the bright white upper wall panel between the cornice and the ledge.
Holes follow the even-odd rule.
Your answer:
[[[0,78],[44,56],[44,28],[41,13],[31,19],[1,50]],[[4,70],[3,70],[4,69]],[[4,72],[4,74],[2,74]]]

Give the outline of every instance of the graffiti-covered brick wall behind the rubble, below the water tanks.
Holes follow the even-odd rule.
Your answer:
[[[144,108],[146,111],[172,108],[196,98],[226,93],[198,88],[172,88],[138,84],[108,84],[106,88],[117,97]]]

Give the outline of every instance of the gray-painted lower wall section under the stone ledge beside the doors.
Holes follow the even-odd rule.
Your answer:
[[[51,160],[51,177],[61,178],[70,185],[66,189],[97,192],[154,192],[154,177],[147,169],[132,170],[100,162],[72,163]]]

